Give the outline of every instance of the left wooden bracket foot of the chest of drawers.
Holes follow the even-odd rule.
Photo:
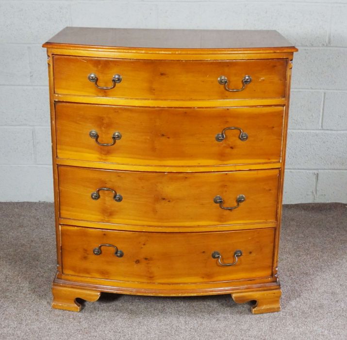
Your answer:
[[[97,301],[101,293],[95,290],[77,289],[53,284],[52,294],[53,308],[79,312],[82,306],[76,301],[77,298],[86,301]]]

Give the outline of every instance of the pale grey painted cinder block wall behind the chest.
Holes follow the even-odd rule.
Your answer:
[[[298,48],[285,203],[347,203],[347,1],[0,1],[0,201],[52,201],[46,52],[65,26],[275,29]]]

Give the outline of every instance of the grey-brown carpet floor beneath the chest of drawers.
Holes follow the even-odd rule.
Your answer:
[[[75,313],[50,307],[53,204],[0,203],[0,339],[347,339],[346,234],[346,204],[284,206],[279,313],[230,295],[106,293]]]

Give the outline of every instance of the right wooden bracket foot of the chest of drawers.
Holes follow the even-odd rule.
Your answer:
[[[251,307],[253,314],[279,312],[281,310],[281,289],[233,293],[231,297],[238,304],[255,301]]]

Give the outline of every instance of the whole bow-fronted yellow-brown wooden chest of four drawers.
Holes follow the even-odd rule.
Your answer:
[[[68,27],[48,52],[53,304],[231,294],[280,310],[293,53],[276,31]]]

